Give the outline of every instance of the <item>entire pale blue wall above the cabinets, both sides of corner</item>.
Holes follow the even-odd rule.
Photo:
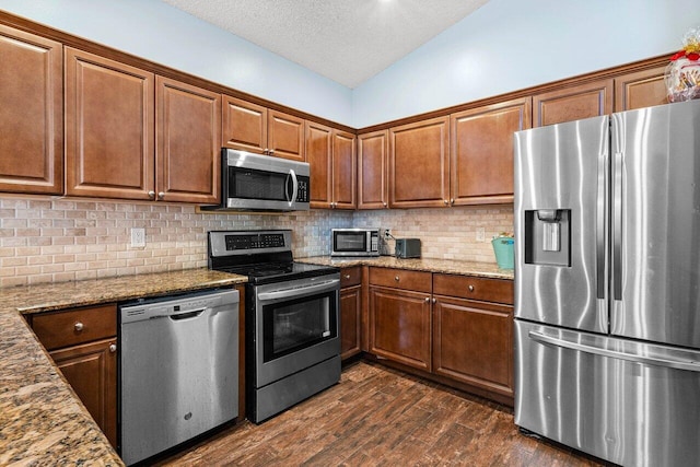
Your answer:
[[[491,0],[351,91],[160,0],[0,9],[357,128],[670,52],[698,0]]]

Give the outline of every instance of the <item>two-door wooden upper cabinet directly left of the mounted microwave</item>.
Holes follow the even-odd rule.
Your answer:
[[[218,202],[219,94],[66,48],[66,192]]]

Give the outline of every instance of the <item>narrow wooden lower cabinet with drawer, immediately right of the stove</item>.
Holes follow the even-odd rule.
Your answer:
[[[362,316],[362,269],[360,266],[340,270],[340,358],[357,355],[360,348]]]

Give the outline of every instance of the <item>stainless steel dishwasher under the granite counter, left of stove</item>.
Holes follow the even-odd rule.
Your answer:
[[[119,452],[127,465],[238,415],[238,291],[119,307]]]

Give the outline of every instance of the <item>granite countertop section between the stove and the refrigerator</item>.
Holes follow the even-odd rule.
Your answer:
[[[376,266],[381,268],[398,268],[447,275],[477,276],[490,279],[513,280],[514,278],[513,269],[500,269],[498,265],[492,262],[462,261],[456,259],[400,259],[394,256],[380,256],[378,258],[331,258],[330,256],[312,256],[308,258],[294,258],[294,260],[323,266],[337,266],[339,268],[350,266]]]

